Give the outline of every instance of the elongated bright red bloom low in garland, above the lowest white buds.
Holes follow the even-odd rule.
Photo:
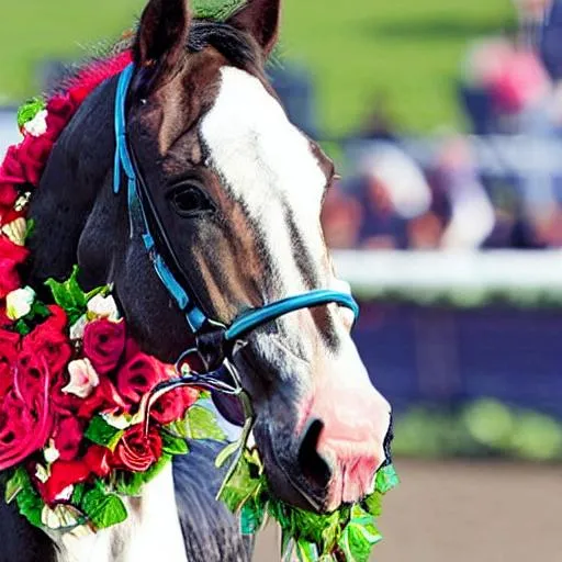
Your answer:
[[[74,461],[57,460],[50,467],[50,476],[45,484],[37,483],[43,499],[53,505],[57,496],[68,486],[86,482],[90,476],[106,476],[110,473],[111,451],[99,445],[92,445],[82,459]]]

